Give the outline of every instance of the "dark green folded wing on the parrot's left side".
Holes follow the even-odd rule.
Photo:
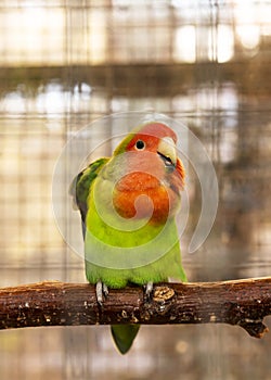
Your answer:
[[[86,232],[86,216],[88,212],[87,200],[89,192],[99,172],[108,161],[108,157],[102,157],[94,161],[74,178],[69,187],[69,194],[73,197],[74,205],[76,208],[79,208],[81,214],[83,237]]]

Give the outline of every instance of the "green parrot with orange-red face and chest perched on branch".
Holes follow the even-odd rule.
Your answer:
[[[109,289],[134,284],[150,297],[153,284],[186,281],[176,215],[184,188],[177,135],[153,121],[132,129],[111,157],[90,163],[73,180],[80,212],[85,267],[102,305]],[[112,325],[118,351],[129,351],[140,325]]]

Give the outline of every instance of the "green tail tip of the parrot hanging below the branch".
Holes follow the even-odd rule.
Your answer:
[[[121,354],[126,354],[137,337],[140,325],[114,325],[111,327],[111,332]]]

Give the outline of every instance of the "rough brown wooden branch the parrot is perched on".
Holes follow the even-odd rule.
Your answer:
[[[0,289],[0,329],[113,324],[230,324],[261,338],[271,315],[271,278],[163,283],[111,290],[101,306],[87,283],[47,281]]]

